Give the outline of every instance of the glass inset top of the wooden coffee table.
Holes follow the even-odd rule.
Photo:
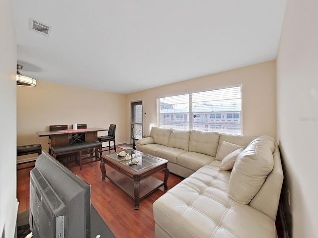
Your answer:
[[[135,171],[145,169],[149,166],[155,165],[158,163],[158,160],[154,157],[143,155],[135,150],[125,150],[126,153],[130,155],[135,154],[135,159],[138,161],[136,164],[130,164],[130,160],[126,160],[125,157],[119,157],[117,153],[107,155],[109,158],[120,162],[121,164],[130,167]]]

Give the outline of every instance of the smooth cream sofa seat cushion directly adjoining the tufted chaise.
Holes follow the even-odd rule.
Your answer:
[[[196,152],[185,152],[177,156],[177,165],[197,171],[204,165],[210,164],[215,157]]]

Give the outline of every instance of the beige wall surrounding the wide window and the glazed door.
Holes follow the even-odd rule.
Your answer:
[[[126,111],[130,112],[131,101],[143,100],[143,110],[146,113],[144,134],[149,135],[149,123],[157,123],[157,98],[242,85],[243,134],[276,137],[275,67],[273,60],[131,93],[126,95]],[[130,128],[129,115],[126,126]],[[130,138],[129,129],[126,138]]]

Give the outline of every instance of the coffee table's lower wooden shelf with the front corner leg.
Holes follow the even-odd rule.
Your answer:
[[[112,181],[116,186],[118,186],[120,189],[122,189],[125,193],[127,193],[132,199],[135,200],[135,209],[139,209],[139,200],[149,195],[151,192],[156,190],[157,188],[164,185],[164,182],[162,180],[156,179],[153,176],[150,176],[146,179],[143,179],[139,181],[139,187],[134,182],[133,179],[128,178],[127,176],[117,172],[112,171],[109,173],[106,173],[106,178],[108,178],[110,181]],[[137,187],[136,187],[137,185]],[[138,189],[139,191],[135,191],[135,189]],[[135,195],[135,192],[139,193],[139,196],[137,194]],[[137,197],[136,197],[137,196]]]

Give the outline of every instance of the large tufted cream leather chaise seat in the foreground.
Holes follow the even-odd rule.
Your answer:
[[[230,172],[206,165],[153,204],[156,226],[171,237],[268,238],[275,223],[228,196]]]

